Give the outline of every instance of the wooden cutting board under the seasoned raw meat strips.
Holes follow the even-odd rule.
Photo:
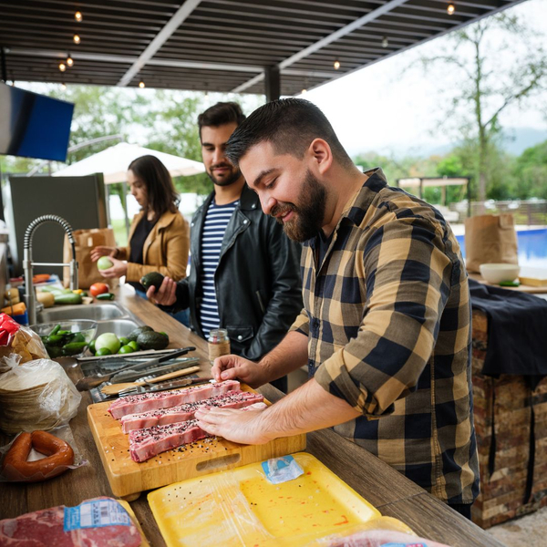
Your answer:
[[[244,391],[253,391],[242,384]],[[270,404],[264,399],[266,404]],[[278,458],[305,449],[305,435],[274,439],[264,445],[241,445],[225,439],[201,439],[137,463],[129,456],[129,435],[108,414],[111,401],[89,405],[88,422],[112,493],[128,501],[141,491],[160,488],[215,471]]]

